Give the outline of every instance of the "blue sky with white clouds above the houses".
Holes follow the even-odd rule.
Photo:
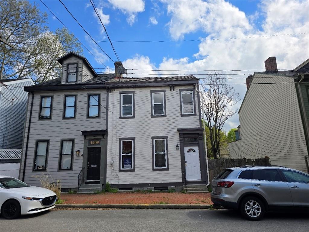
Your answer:
[[[102,51],[88,38],[82,28],[59,1],[44,3],[93,52],[101,62],[113,67]],[[40,9],[49,15],[51,31],[61,23],[40,2]],[[107,40],[102,25],[94,15],[89,1],[64,1],[78,21],[97,41]],[[114,42],[116,52],[126,68],[163,70],[230,70],[264,69],[269,56],[277,57],[278,68],[294,68],[308,58],[309,0],[224,1],[224,0],[107,0],[95,1],[112,41],[169,41],[214,38],[258,37],[232,40],[133,43]],[[289,36],[265,37],[277,34]],[[87,40],[87,41],[85,41]],[[116,60],[108,42],[99,45]],[[93,67],[103,67],[83,48],[83,55]],[[99,71],[99,70],[98,70]],[[135,71],[137,72],[137,71]],[[141,72],[139,72],[141,73]],[[147,74],[193,74],[181,71],[144,71]],[[205,74],[205,72],[198,72]],[[225,73],[228,73],[225,71]],[[232,72],[229,72],[232,73]],[[235,73],[235,72],[234,72]],[[247,77],[249,71],[243,71]],[[197,76],[201,77],[201,76]],[[229,83],[245,83],[245,79],[230,79]],[[245,85],[235,85],[241,100]],[[237,110],[241,101],[234,106]],[[226,123],[225,130],[237,127],[238,115]]]

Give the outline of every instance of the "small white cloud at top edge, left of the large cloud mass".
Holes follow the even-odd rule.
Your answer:
[[[143,0],[108,0],[108,2],[127,15],[127,22],[130,26],[137,20],[137,13],[145,11],[145,2]]]

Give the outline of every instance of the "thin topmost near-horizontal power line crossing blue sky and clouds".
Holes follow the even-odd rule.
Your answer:
[[[309,32],[293,33],[293,34],[266,35],[266,36],[235,37],[235,38],[214,38],[214,39],[195,39],[195,40],[157,40],[157,41],[112,41],[112,42],[114,42],[114,43],[194,42],[194,41],[212,41],[212,40],[252,39],[252,38],[261,38],[261,37],[292,36],[292,35],[303,35],[303,34],[309,34]],[[89,40],[85,40],[85,41],[89,41]],[[96,41],[96,42],[108,42],[108,41],[102,40],[102,41]]]

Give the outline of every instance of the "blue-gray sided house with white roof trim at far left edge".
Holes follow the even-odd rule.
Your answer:
[[[21,148],[31,78],[0,80],[0,149]]]

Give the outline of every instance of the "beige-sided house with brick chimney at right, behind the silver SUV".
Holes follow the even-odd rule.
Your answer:
[[[278,71],[276,57],[269,57],[265,69],[247,78],[230,157],[268,156],[273,165],[308,172],[309,59],[294,70]]]

